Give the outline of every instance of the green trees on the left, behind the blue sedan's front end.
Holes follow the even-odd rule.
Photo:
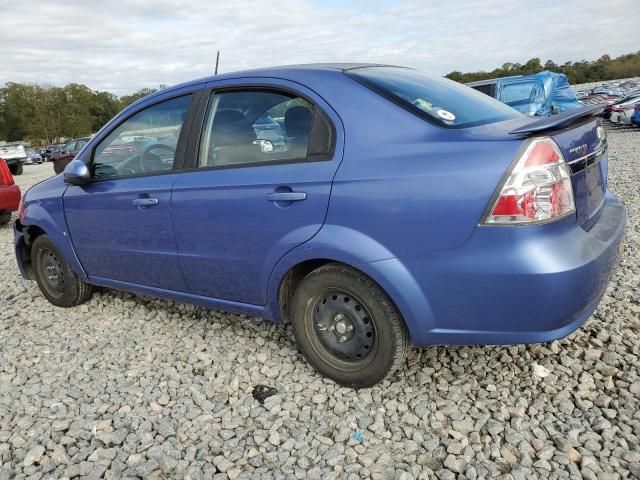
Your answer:
[[[143,88],[117,97],[78,83],[53,87],[9,82],[0,88],[0,140],[44,145],[89,135],[130,103],[157,90]]]

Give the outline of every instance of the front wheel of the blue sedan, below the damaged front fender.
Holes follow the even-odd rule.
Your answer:
[[[91,298],[93,286],[78,278],[47,235],[33,242],[31,264],[40,291],[52,304],[75,307]]]

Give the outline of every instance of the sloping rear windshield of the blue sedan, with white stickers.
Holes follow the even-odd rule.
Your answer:
[[[362,67],[345,72],[425,120],[447,128],[495,123],[522,114],[473,88],[402,67]]]

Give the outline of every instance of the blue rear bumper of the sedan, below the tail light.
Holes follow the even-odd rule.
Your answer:
[[[555,340],[597,307],[617,263],[626,211],[607,193],[587,232],[567,218],[478,227],[461,248],[369,264],[415,345]]]

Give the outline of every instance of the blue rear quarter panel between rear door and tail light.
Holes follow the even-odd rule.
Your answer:
[[[349,245],[362,261],[464,243],[521,140],[487,128],[434,126],[343,77],[340,86],[327,80],[317,87],[345,128],[323,229],[351,229],[382,246]]]

